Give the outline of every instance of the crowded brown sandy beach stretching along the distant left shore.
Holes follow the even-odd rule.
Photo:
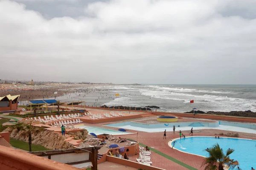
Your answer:
[[[45,85],[23,85],[23,84],[1,84],[0,96],[20,95],[19,105],[28,104],[29,100],[56,99],[61,101],[81,101],[86,95],[96,97],[90,100],[99,100],[104,89],[99,89],[99,84],[45,84]],[[100,84],[108,86],[108,84]],[[107,94],[107,93],[105,93]],[[76,96],[80,98],[76,98]],[[94,99],[95,98],[95,99]],[[110,97],[109,97],[110,98]]]

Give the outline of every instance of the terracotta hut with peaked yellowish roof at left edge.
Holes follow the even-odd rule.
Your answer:
[[[18,108],[20,95],[6,95],[0,97],[0,111],[15,110]]]

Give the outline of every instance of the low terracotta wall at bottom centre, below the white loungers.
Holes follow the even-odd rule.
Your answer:
[[[129,161],[129,160],[122,159],[122,158],[116,158],[114,156],[107,156],[107,161],[113,162],[113,163],[116,163],[116,164],[122,164],[122,165],[125,165],[125,166],[128,166],[128,167],[134,167],[136,169],[163,170],[163,169],[160,169],[160,168],[157,168],[157,167],[147,166],[147,165],[144,165],[144,164],[139,164],[139,163],[134,162],[134,161]]]

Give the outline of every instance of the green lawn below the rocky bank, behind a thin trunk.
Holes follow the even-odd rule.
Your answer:
[[[19,149],[29,151],[29,143],[10,138],[10,144],[13,147],[17,147]],[[37,144],[31,144],[31,147],[32,147],[32,151],[49,150],[49,149],[47,149],[41,145],[37,145]]]

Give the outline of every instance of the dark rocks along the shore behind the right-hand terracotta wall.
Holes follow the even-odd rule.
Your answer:
[[[191,110],[190,112],[185,113],[193,113],[194,111]],[[227,116],[239,116],[239,117],[250,117],[250,118],[256,118],[256,112],[252,112],[250,110],[245,111],[231,111],[231,112],[218,112],[218,111],[208,111],[204,112],[201,110],[197,110],[197,113],[200,114],[212,114],[212,115],[227,115]]]

